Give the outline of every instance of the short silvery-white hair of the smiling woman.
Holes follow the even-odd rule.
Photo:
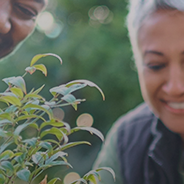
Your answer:
[[[160,9],[184,11],[184,0],[129,0],[127,27],[136,64],[141,61],[138,33],[143,21]]]

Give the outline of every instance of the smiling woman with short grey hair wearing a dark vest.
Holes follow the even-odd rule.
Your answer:
[[[184,184],[184,1],[132,0],[127,20],[145,103],[114,124],[95,167],[116,184]]]

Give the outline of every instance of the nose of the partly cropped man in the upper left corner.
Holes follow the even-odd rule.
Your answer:
[[[7,2],[0,3],[0,34],[7,34],[11,30],[11,11],[9,7],[10,5]]]

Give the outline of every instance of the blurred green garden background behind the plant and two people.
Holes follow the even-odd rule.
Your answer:
[[[142,102],[125,26],[127,11],[125,0],[50,0],[34,34],[13,56],[0,63],[0,78],[22,75],[36,54],[58,54],[63,65],[53,57],[42,59],[48,77],[41,72],[26,76],[27,88],[46,84],[42,95],[49,99],[51,87],[75,79],[91,80],[103,90],[106,100],[96,89],[82,89],[76,95],[87,101],[79,105],[78,111],[72,107],[63,109],[64,120],[75,126],[78,116],[88,113],[94,119],[93,126],[106,135],[120,115]],[[0,86],[1,90],[6,87],[1,81]],[[70,140],[92,143],[91,147],[69,150],[73,171],[82,176],[92,167],[102,143],[86,132],[78,132]],[[69,170],[59,167],[49,172],[63,178]]]

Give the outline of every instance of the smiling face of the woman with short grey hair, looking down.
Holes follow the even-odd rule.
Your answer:
[[[173,132],[184,135],[184,12],[159,10],[139,30],[144,100]]]

